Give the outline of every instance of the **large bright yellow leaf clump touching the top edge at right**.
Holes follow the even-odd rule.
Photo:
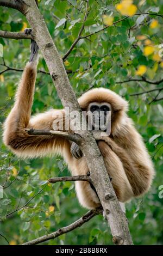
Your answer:
[[[116,5],[116,9],[122,15],[127,16],[133,16],[137,11],[137,7],[132,0],[122,0],[120,4]]]

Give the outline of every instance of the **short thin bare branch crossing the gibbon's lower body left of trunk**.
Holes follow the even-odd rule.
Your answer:
[[[83,181],[88,181],[92,182],[90,179],[90,176],[88,175],[77,175],[77,176],[65,176],[65,177],[55,177],[49,179],[49,183],[56,183],[56,182],[61,182],[61,181],[77,181],[77,180],[83,180]]]

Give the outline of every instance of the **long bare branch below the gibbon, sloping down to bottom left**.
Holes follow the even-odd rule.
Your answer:
[[[54,239],[62,234],[68,233],[68,232],[82,226],[84,223],[91,220],[91,218],[93,218],[94,216],[101,214],[101,213],[102,213],[101,208],[96,209],[96,210],[91,210],[91,211],[87,212],[87,214],[85,214],[83,217],[79,218],[79,220],[73,222],[72,224],[70,224],[66,227],[60,228],[57,231],[55,231],[49,235],[43,235],[43,236],[36,238],[32,241],[23,243],[22,245],[37,245],[37,243],[41,243],[41,242],[48,241],[50,239]]]

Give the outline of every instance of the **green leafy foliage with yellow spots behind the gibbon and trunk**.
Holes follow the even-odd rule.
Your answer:
[[[102,29],[104,14],[114,17],[114,21],[122,19],[124,16],[115,8],[119,2],[91,0],[82,36]],[[163,14],[161,0],[134,1],[134,4],[138,8],[137,13]],[[86,1],[39,1],[39,8],[61,56],[64,56],[78,36],[84,19],[85,5]],[[155,28],[150,26],[153,20],[159,22]],[[162,88],[163,82],[159,84],[142,81],[121,82],[131,78],[142,80],[142,76],[136,75],[139,65],[145,65],[147,68],[143,75],[146,80],[160,81],[163,78],[163,60],[155,59],[154,54],[145,56],[147,42],[140,40],[140,35],[143,35],[151,40],[152,45],[163,43],[162,25],[162,17],[156,15],[128,17],[102,32],[80,39],[65,60],[66,69],[73,71],[68,76],[77,96],[91,87],[105,87],[114,90],[129,101],[129,116],[145,139],[149,154],[153,158],[156,176],[151,190],[145,197],[127,204],[129,227],[136,245],[163,244],[163,199],[158,196],[159,186],[163,185],[163,108],[162,101],[158,100],[162,97],[161,90],[137,96],[131,94]],[[20,13],[0,7],[0,29],[16,32],[23,31],[26,27],[28,27],[27,21]],[[30,41],[0,38],[0,44],[3,45],[5,64],[13,69],[23,69],[29,57]],[[4,64],[2,57],[0,63]],[[41,56],[38,68],[48,71]],[[0,72],[5,69],[4,65],[0,66]],[[21,71],[10,70],[0,76],[1,135],[2,124],[13,105],[21,74]],[[51,77],[39,73],[32,114],[51,107],[61,108],[61,102]],[[48,178],[69,175],[61,157],[24,161],[13,155],[1,141],[0,175],[1,185],[4,186],[3,198],[0,199],[1,245],[6,245],[8,242],[10,245],[16,245],[51,233],[77,220],[86,212],[78,203],[73,182],[45,187]],[[45,188],[37,194],[43,187]],[[37,196],[32,199],[35,194]],[[9,215],[30,199],[32,200],[26,207]],[[82,227],[45,244],[107,245],[112,242],[103,217],[96,216]]]

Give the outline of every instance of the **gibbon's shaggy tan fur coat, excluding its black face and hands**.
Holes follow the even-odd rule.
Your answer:
[[[25,128],[52,130],[55,112],[51,110],[30,118],[37,61],[26,65],[15,97],[15,104],[4,124],[3,141],[19,157],[39,157],[60,154],[64,157],[72,175],[86,175],[88,167],[83,156],[71,155],[71,143],[65,138],[29,135]],[[96,88],[83,94],[79,105],[86,110],[91,102],[108,102],[111,105],[111,133],[103,136],[95,133],[106,169],[120,202],[140,196],[148,191],[154,176],[152,161],[141,136],[126,112],[128,103],[109,89]],[[93,209],[100,205],[89,182],[77,181],[76,192],[80,204]]]

